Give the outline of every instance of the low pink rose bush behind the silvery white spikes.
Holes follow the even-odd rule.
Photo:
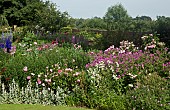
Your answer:
[[[46,67],[46,72],[35,75],[31,73],[27,76],[28,80],[32,80],[32,83],[37,82],[39,86],[46,87],[49,90],[55,90],[56,87],[61,87],[67,91],[73,91],[73,89],[80,85],[82,81],[83,72],[76,71],[72,68],[61,68],[59,64],[54,64],[51,67]]]

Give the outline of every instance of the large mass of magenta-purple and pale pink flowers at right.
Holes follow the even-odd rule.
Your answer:
[[[155,36],[155,39],[156,38]],[[146,43],[146,47],[147,49],[155,49],[155,51],[139,50],[132,42],[122,41],[119,48],[115,48],[114,45],[112,45],[103,53],[91,53],[94,60],[86,64],[86,68],[88,70],[98,68],[98,71],[91,71],[90,73],[99,76],[107,71],[107,74],[112,74],[115,80],[123,79],[133,81],[141,75],[153,72],[158,72],[164,77],[167,76],[167,74],[169,74],[167,49],[165,49],[163,45],[160,45],[163,43],[154,40],[152,35],[143,37],[143,39],[148,42],[150,42],[151,39],[151,45]],[[130,84],[131,82],[126,83]]]

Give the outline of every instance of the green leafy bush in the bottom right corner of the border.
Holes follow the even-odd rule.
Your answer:
[[[135,89],[126,94],[127,109],[167,110],[169,105],[170,82],[156,73],[143,76]]]

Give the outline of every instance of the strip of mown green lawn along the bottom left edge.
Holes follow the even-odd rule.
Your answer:
[[[92,110],[66,106],[43,106],[29,104],[0,104],[0,110]]]

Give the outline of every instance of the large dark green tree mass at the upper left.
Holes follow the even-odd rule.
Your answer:
[[[69,15],[61,13],[56,4],[42,0],[0,0],[0,14],[10,26],[40,25],[55,31],[69,24]]]

